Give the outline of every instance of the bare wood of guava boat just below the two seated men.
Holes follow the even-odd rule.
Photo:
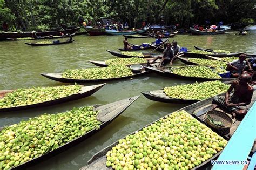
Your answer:
[[[196,65],[194,65],[196,66]],[[193,67],[193,65],[190,66],[182,66],[182,67]],[[179,74],[172,73],[169,69],[171,67],[145,67],[146,70],[150,70],[156,74],[159,74],[160,76],[170,77],[170,78],[179,78],[179,79],[186,79],[186,80],[194,80],[194,81],[213,81],[213,80],[234,80],[235,78],[203,78],[203,77],[189,77],[189,76],[181,76]]]

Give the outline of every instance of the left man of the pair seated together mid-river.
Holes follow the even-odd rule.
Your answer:
[[[154,62],[156,62],[156,60],[161,59],[160,65],[159,66],[164,66],[167,63],[170,63],[170,61],[172,60],[174,56],[174,51],[171,48],[171,44],[170,43],[166,43],[166,49],[163,52],[163,56],[158,56],[156,57],[153,62],[151,62],[150,64],[153,64]]]

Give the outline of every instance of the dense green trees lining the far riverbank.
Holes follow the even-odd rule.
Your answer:
[[[0,23],[8,23],[11,30],[49,29],[65,25],[78,25],[78,18],[95,24],[100,18],[128,22],[140,27],[143,21],[151,24],[252,23],[256,19],[256,0],[99,0],[99,1],[32,1],[0,0]],[[164,19],[161,21],[161,16]]]

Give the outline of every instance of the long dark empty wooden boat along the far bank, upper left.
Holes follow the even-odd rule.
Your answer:
[[[68,33],[75,33],[76,31],[78,31],[80,29],[80,27],[73,27],[73,28],[68,28],[66,30],[57,30],[57,31],[45,31],[45,32],[36,32],[37,36],[59,36],[59,33],[62,32],[64,34],[68,34]],[[22,33],[18,33],[18,32],[1,32],[0,33],[0,40],[7,40],[7,38],[24,38],[24,37],[32,37],[32,32],[22,32]]]

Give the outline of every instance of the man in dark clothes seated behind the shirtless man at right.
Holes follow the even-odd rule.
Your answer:
[[[230,63],[227,63],[227,71],[231,72],[231,77],[239,77],[242,71],[245,69],[245,66],[248,66],[248,70],[252,70],[252,67],[248,61],[245,60],[246,55],[242,54],[239,56],[239,59],[233,60]]]

